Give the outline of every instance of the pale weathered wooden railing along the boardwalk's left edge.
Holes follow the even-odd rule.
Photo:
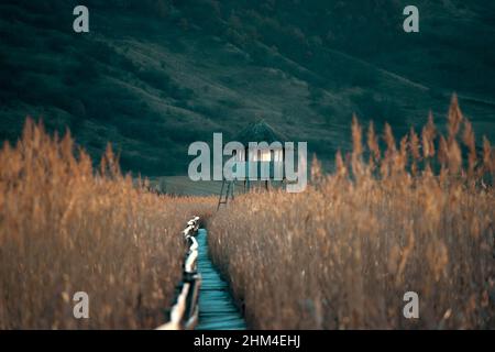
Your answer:
[[[193,330],[198,323],[198,294],[201,276],[197,272],[199,217],[194,217],[184,229],[188,251],[184,260],[183,285],[177,301],[170,309],[170,320],[156,330]]]

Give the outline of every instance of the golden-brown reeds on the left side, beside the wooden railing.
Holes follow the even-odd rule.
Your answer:
[[[208,199],[158,197],[96,170],[69,134],[28,120],[0,151],[0,329],[141,329],[164,322],[182,275],[180,230]],[[89,295],[89,319],[73,295]]]

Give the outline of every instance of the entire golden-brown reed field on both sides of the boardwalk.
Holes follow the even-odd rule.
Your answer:
[[[0,329],[148,329],[180,280],[180,230],[207,219],[215,263],[258,329],[494,329],[495,153],[454,99],[396,141],[353,122],[353,152],[301,194],[157,196],[28,120],[0,151]],[[464,157],[463,157],[464,155]],[[144,185],[145,186],[145,185]],[[73,295],[90,297],[74,319]],[[403,317],[406,292],[419,319]]]

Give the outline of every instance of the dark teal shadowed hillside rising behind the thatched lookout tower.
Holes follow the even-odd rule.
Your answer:
[[[355,112],[399,133],[457,91],[475,131],[495,140],[495,4],[418,0],[405,33],[400,0],[91,0],[0,3],[0,140],[25,116],[70,128],[125,170],[179,175],[187,147],[264,119],[308,141],[329,166]]]

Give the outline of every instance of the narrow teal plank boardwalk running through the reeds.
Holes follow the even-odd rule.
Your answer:
[[[199,289],[199,321],[196,330],[244,330],[245,321],[235,307],[228,284],[220,277],[208,254],[207,231],[199,229],[198,272],[201,274]]]

